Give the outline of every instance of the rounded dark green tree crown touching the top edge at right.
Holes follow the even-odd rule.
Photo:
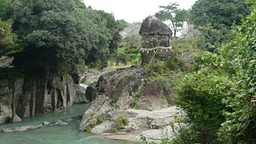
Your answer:
[[[241,18],[250,13],[250,5],[246,0],[198,0],[190,11],[190,20],[195,26],[212,25],[218,28],[225,25],[229,29],[233,23],[239,24]]]

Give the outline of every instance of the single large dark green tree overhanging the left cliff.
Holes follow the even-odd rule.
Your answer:
[[[6,14],[24,47],[16,66],[68,73],[77,64],[94,62],[91,54],[108,55],[106,22],[95,22],[97,14],[89,17],[89,12],[73,0],[15,0]]]

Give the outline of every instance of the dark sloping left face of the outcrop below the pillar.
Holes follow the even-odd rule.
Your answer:
[[[96,83],[96,98],[86,110],[80,130],[85,130],[90,119],[97,119],[102,114],[108,114],[113,110],[126,110],[130,107],[133,95],[142,85],[142,70],[124,68],[103,74]],[[92,117],[91,114],[95,113]]]

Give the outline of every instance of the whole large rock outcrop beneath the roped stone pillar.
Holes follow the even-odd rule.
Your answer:
[[[94,86],[96,97],[83,115],[79,129],[126,139],[130,134],[135,138],[142,131],[170,125],[178,112],[173,106],[173,92],[166,83],[149,80],[148,76],[143,68],[133,67],[102,74]],[[122,116],[129,124],[111,133]]]

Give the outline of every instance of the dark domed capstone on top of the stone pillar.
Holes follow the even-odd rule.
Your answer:
[[[141,29],[139,30],[141,35],[172,35],[173,32],[166,24],[161,22],[154,16],[148,16],[142,22]]]

